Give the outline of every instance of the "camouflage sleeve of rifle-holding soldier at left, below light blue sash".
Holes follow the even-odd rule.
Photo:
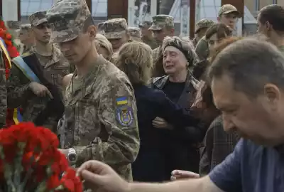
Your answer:
[[[23,73],[16,65],[12,64],[10,75],[7,80],[8,107],[17,108],[23,105],[29,97],[33,96],[33,92],[28,88],[30,84],[27,78],[21,78]]]

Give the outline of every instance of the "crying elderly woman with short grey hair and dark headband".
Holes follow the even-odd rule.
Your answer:
[[[192,68],[197,63],[197,54],[192,43],[176,36],[163,41],[163,70],[165,76],[153,78],[151,86],[163,90],[170,100],[182,107],[190,107],[195,99]],[[166,174],[170,169],[182,167],[187,171],[198,171],[198,143],[202,142],[207,127],[195,124],[190,127],[176,127],[162,117],[153,120],[153,126],[163,131],[163,151],[166,156]]]

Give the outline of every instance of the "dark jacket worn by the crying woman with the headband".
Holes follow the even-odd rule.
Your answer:
[[[193,79],[191,73],[188,73],[185,80],[185,87],[182,90],[180,98],[176,104],[182,107],[191,107],[195,99],[195,88],[190,82]],[[151,87],[158,90],[164,90],[168,82],[168,76],[154,78]],[[166,158],[165,172],[166,179],[170,178],[170,172],[174,169],[182,169],[186,171],[195,171],[199,169],[200,152],[198,144],[202,142],[207,127],[202,122],[192,124],[192,126],[175,127],[173,130],[163,129],[161,132],[163,153]]]

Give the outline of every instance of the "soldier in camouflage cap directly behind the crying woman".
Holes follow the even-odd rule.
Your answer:
[[[153,31],[153,36],[159,44],[158,48],[153,50],[153,77],[155,78],[165,75],[165,71],[163,70],[162,43],[166,36],[173,36],[174,34],[173,17],[168,15],[153,16],[153,23],[149,30]]]

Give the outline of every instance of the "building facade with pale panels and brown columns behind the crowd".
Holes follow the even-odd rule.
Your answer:
[[[0,0],[0,16],[4,20],[28,22],[35,11],[50,9],[56,0]],[[175,19],[175,35],[189,36],[195,22],[202,18],[217,21],[222,4],[233,4],[243,14],[244,28],[254,31],[258,11],[268,4],[284,6],[284,0],[86,0],[96,23],[123,17],[129,26],[151,20],[155,14],[169,14]],[[13,4],[13,6],[11,6]],[[244,7],[244,9],[242,9]],[[17,14],[15,14],[17,13]],[[250,33],[251,33],[250,32]],[[253,33],[253,32],[252,32]]]

